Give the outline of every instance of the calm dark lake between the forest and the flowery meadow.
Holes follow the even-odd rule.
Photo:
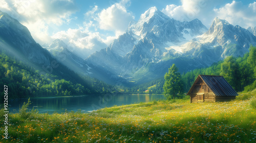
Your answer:
[[[32,104],[29,109],[37,109],[39,113],[54,112],[63,113],[68,111],[88,112],[104,107],[112,107],[114,105],[128,105],[140,102],[151,102],[154,100],[165,99],[163,95],[105,95],[105,96],[79,96],[79,97],[56,97],[56,98],[36,98],[30,99]],[[9,101],[10,112],[18,112],[27,99]]]

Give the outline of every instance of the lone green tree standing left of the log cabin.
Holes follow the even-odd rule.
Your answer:
[[[181,81],[181,75],[178,72],[178,67],[176,67],[175,64],[173,64],[169,70],[168,73],[164,75],[164,96],[166,99],[175,99],[175,97],[179,94],[181,95],[183,92],[183,83]]]

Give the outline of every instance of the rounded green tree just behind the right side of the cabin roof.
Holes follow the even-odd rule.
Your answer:
[[[233,56],[224,59],[224,62],[221,64],[220,75],[227,80],[234,90],[238,91],[240,89],[239,65]]]

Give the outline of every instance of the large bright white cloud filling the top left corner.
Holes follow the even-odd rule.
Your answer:
[[[3,0],[0,9],[25,25],[39,43],[50,42],[49,27],[69,23],[76,12],[71,0]]]

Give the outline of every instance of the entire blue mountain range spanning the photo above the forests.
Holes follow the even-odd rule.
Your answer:
[[[243,56],[250,44],[256,45],[255,31],[255,27],[232,26],[218,17],[207,29],[199,19],[181,22],[152,7],[130,22],[108,47],[91,54],[86,49],[85,53],[73,51],[59,39],[42,45],[43,49],[25,26],[0,11],[1,49],[40,66],[57,60],[75,73],[108,83],[150,81],[162,77],[173,63],[182,73],[230,55]],[[91,55],[84,60],[87,54]],[[61,67],[55,70],[60,75],[65,72]]]

